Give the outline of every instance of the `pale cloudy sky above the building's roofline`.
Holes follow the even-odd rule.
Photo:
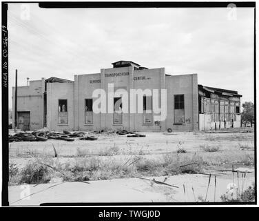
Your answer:
[[[18,86],[41,77],[74,79],[118,60],[198,84],[238,90],[253,102],[253,8],[46,9],[8,4],[9,107]]]

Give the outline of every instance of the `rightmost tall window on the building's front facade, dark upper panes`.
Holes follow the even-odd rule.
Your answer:
[[[174,95],[174,124],[185,123],[185,97]]]

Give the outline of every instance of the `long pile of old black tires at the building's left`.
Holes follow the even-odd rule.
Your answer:
[[[65,140],[68,142],[74,141],[75,137],[81,137],[80,140],[97,140],[97,137],[87,136],[85,137],[85,132],[74,132],[69,131],[61,132],[49,132],[49,131],[32,131],[28,132],[19,132],[14,135],[9,135],[9,142],[22,142],[22,141],[41,141],[45,142],[49,139],[54,140]]]

